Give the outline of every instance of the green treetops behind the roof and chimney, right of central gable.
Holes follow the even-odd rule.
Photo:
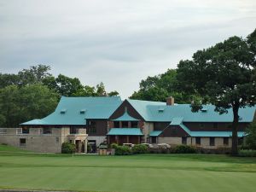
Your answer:
[[[166,102],[166,97],[172,96],[177,103],[191,101],[192,95],[184,94],[179,89],[177,82],[177,70],[168,69],[166,73],[148,77],[140,82],[140,90],[135,91],[131,99]]]

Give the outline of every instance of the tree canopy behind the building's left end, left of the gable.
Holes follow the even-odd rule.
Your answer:
[[[81,84],[78,78],[59,74],[56,78],[45,65],[22,69],[17,74],[0,73],[0,126],[16,127],[53,112],[61,96],[118,96],[103,83]]]

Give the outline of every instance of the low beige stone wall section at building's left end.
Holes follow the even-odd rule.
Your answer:
[[[48,133],[44,128],[29,128],[29,132],[22,133],[22,128],[0,128],[0,143],[40,153],[61,153],[64,142],[84,142],[87,147],[85,129],[79,129],[77,134],[70,134],[69,127],[50,128]],[[3,131],[4,130],[4,131]],[[86,143],[86,146],[85,146]],[[79,146],[81,148],[81,146]]]

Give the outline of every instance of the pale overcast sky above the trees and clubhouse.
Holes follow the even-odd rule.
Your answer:
[[[246,38],[255,10],[255,0],[0,0],[0,73],[49,65],[125,99],[198,49]]]

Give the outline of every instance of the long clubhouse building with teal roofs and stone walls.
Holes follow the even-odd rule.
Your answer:
[[[219,114],[213,105],[192,113],[189,104],[148,102],[111,97],[61,97],[55,112],[33,119],[20,128],[0,128],[0,143],[32,151],[61,153],[61,143],[76,145],[78,153],[87,143],[168,143],[201,148],[230,148],[233,113]],[[238,137],[253,122],[255,107],[240,108]]]

